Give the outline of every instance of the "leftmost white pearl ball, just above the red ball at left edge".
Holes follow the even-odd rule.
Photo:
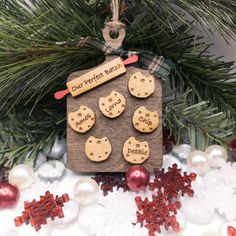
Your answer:
[[[8,180],[20,190],[24,190],[33,184],[34,170],[26,164],[17,165],[10,170]]]

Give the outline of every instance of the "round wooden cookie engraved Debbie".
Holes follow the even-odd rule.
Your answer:
[[[134,137],[128,138],[123,146],[123,156],[132,164],[142,164],[149,158],[150,150],[147,141],[139,141]]]

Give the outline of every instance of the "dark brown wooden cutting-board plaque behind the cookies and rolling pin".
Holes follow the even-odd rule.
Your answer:
[[[106,61],[107,62],[107,61]],[[148,170],[162,165],[162,83],[155,79],[154,93],[145,99],[132,96],[128,90],[128,81],[132,74],[141,71],[150,75],[148,71],[128,66],[125,74],[95,87],[77,97],[67,97],[67,114],[79,109],[81,105],[91,108],[96,115],[96,123],[87,133],[77,133],[67,123],[67,155],[68,166],[78,172],[125,172],[132,164],[128,163],[122,154],[124,142],[131,136],[140,141],[147,141],[150,146],[149,159],[142,165]],[[91,69],[90,69],[91,70]],[[90,70],[74,72],[68,77],[68,82]],[[117,118],[105,117],[98,107],[100,97],[107,96],[115,90],[126,98],[126,109]],[[157,111],[160,125],[152,133],[140,133],[132,124],[132,116],[136,109],[145,106],[148,110]],[[90,136],[96,138],[108,137],[112,145],[112,153],[104,162],[92,162],[85,155],[85,142]]]

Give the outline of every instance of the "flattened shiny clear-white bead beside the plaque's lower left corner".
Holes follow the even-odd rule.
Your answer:
[[[61,161],[52,160],[43,163],[38,169],[39,177],[44,181],[59,181],[65,174],[66,167]]]

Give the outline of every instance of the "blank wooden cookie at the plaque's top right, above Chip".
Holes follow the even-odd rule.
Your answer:
[[[137,71],[131,75],[128,88],[134,97],[147,98],[155,91],[155,79],[152,75],[145,76]]]

